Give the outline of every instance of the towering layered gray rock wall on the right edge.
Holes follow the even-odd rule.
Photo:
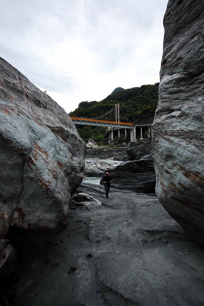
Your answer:
[[[203,19],[203,1],[168,2],[152,153],[161,204],[204,246]]]

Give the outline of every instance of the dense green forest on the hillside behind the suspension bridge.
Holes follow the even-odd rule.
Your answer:
[[[159,83],[130,89],[121,88],[121,90],[117,90],[120,88],[118,87],[102,101],[82,101],[71,114],[84,118],[96,118],[109,112],[116,103],[120,103],[120,121],[125,122],[127,119],[128,122],[142,123],[144,118],[149,118],[148,120],[152,122],[158,103],[158,86]],[[113,119],[107,117],[104,120]],[[76,127],[84,141],[91,138],[97,143],[103,139],[106,130],[100,126],[76,125]]]

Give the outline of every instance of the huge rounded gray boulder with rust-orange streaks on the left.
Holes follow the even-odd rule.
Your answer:
[[[66,112],[0,58],[0,237],[58,233],[83,179],[85,143]]]

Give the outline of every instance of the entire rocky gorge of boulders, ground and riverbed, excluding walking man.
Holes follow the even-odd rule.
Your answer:
[[[86,149],[0,58],[1,306],[203,305],[203,12],[168,3],[152,143]]]

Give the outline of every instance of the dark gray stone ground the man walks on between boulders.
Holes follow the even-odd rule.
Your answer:
[[[58,236],[21,235],[10,305],[203,304],[203,247],[155,196],[111,188],[105,199],[102,186],[89,184],[77,191],[103,206],[77,205]]]

